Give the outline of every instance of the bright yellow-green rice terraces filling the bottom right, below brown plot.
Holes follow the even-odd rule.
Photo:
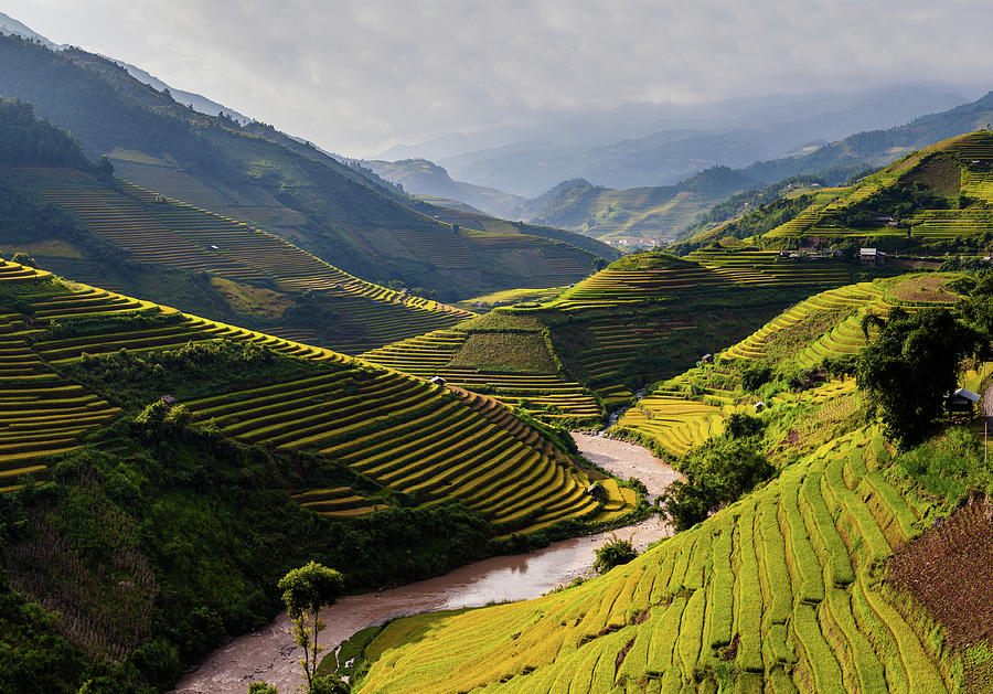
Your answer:
[[[878,584],[919,532],[887,459],[858,431],[605,577],[395,621],[359,691],[948,691],[932,641]]]

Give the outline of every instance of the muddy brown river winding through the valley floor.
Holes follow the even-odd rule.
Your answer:
[[[620,478],[637,477],[644,482],[650,499],[679,479],[679,473],[640,446],[585,434],[573,436],[579,450],[595,463]],[[652,516],[613,532],[619,537],[630,537],[640,552],[668,535],[670,528]],[[321,632],[320,643],[330,653],[360,629],[393,617],[538,597],[591,573],[594,549],[608,536],[609,533],[600,533],[565,540],[527,554],[476,562],[445,576],[399,588],[346,596],[321,615],[328,629]],[[195,672],[180,680],[174,692],[245,694],[255,680],[275,684],[280,692],[293,692],[302,681],[297,662],[301,653],[293,645],[289,620],[281,615],[269,626],[207,655]]]

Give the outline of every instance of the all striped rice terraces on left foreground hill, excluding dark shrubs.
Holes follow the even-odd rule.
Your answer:
[[[10,476],[32,467],[40,471],[41,463],[25,468],[22,461],[71,450],[79,435],[117,413],[82,387],[64,383],[42,360],[72,361],[120,349],[156,350],[226,338],[329,365],[316,375],[183,403],[196,420],[212,420],[232,437],[330,456],[421,502],[460,499],[508,533],[565,519],[611,517],[631,508],[620,491],[606,503],[587,494],[587,473],[492,398],[456,394],[330,350],[84,285],[53,284],[8,265],[0,267],[0,277],[8,275],[8,281],[21,286],[19,297],[32,320],[29,329],[21,314],[0,318],[0,352],[6,353],[0,353],[0,381],[10,405],[9,416],[0,420],[0,463],[15,463],[18,472]],[[71,324],[73,319],[98,318],[128,325],[113,320],[136,313],[162,322],[153,329],[38,340],[53,320]],[[29,334],[34,351],[25,342]],[[3,476],[0,472],[0,481]],[[339,488],[306,490],[297,499],[314,512],[338,516],[377,510],[376,503]]]

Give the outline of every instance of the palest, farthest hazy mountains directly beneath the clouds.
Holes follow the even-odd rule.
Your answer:
[[[428,158],[457,180],[525,196],[575,177],[609,188],[671,185],[714,166],[740,168],[802,154],[852,132],[888,128],[963,102],[948,87],[927,84],[736,99],[686,107],[681,120],[664,127],[656,121],[654,129],[651,120],[632,119],[629,127],[621,120],[612,139],[584,129],[573,139],[567,128],[559,135],[535,129],[487,149]]]

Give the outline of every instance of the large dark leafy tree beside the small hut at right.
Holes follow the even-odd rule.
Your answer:
[[[894,309],[875,340],[858,355],[855,382],[869,413],[904,450],[922,441],[955,389],[962,360],[975,352],[980,333],[948,309],[908,314]]]

